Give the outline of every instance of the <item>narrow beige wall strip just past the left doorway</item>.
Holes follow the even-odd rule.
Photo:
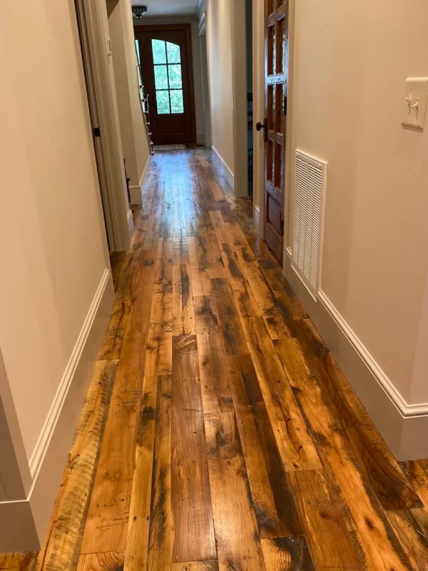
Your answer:
[[[141,112],[132,13],[128,0],[106,4],[123,156],[130,184],[138,186],[150,152]]]

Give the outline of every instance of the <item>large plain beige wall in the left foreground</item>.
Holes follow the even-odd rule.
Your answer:
[[[108,266],[75,20],[0,4],[0,346],[28,458]]]

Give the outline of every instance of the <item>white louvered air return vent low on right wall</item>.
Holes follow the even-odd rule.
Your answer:
[[[327,163],[295,151],[292,267],[316,297],[320,288],[322,214]]]

